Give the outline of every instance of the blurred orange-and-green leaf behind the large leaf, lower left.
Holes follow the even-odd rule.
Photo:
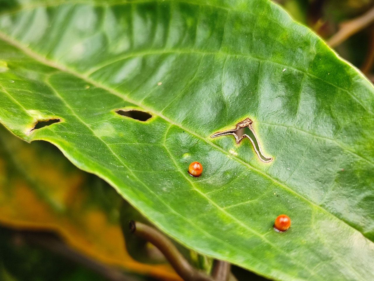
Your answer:
[[[52,231],[70,247],[104,265],[180,281],[166,261],[146,265],[126,252],[119,224],[122,201],[105,181],[74,167],[52,144],[28,144],[1,126],[1,225]]]

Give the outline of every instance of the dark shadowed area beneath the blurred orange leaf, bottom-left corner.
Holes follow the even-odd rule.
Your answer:
[[[142,280],[85,256],[52,232],[3,226],[0,226],[0,280],[3,280],[1,274],[17,281]]]

